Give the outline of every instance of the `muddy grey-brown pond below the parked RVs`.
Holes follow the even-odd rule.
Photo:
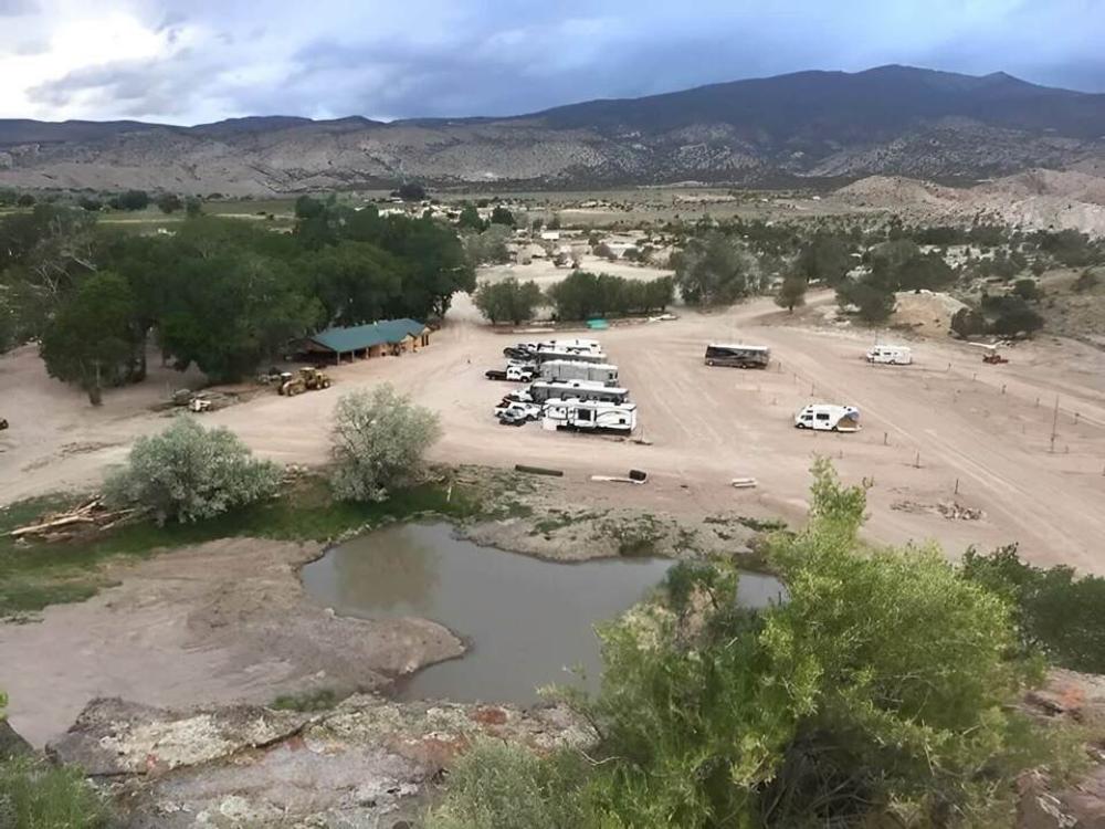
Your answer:
[[[307,595],[360,618],[420,616],[464,639],[464,657],[403,681],[406,699],[522,705],[536,689],[590,690],[600,668],[596,622],[611,619],[663,579],[666,558],[558,564],[456,538],[450,524],[403,524],[349,541],[303,568]],[[738,600],[762,607],[779,596],[770,576],[745,574]]]

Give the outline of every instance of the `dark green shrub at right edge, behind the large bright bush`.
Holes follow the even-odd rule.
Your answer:
[[[970,549],[964,578],[1008,599],[1023,648],[1075,671],[1105,673],[1105,578],[1066,566],[1042,569],[1022,562],[1017,546],[989,555]]]

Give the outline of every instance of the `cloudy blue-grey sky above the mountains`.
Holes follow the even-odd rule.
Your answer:
[[[885,63],[1105,92],[1105,0],[0,0],[0,117],[505,115]]]

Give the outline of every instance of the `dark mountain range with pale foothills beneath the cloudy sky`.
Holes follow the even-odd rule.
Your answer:
[[[1105,159],[1105,95],[1004,73],[798,72],[513,117],[0,120],[0,187],[266,195],[433,186],[971,181]]]

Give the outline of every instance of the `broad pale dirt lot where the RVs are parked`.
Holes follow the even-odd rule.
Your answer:
[[[1098,350],[1042,339],[1011,349],[1009,365],[985,366],[975,348],[917,342],[914,366],[873,367],[861,357],[873,342],[870,332],[793,327],[766,300],[714,315],[684,312],[676,322],[601,335],[639,405],[640,432],[652,442],[636,445],[536,426],[499,427],[491,407],[508,386],[483,379],[483,371],[501,364],[502,347],[517,337],[474,319],[471,304],[459,297],[450,324],[419,354],[337,367],[327,391],[261,396],[203,420],[230,427],[270,458],[316,463],[326,458],[338,396],[388,380],[441,412],[445,433],[434,460],[559,466],[581,502],[687,516],[737,510],[798,520],[810,459],[823,453],[849,480],[874,481],[867,525],[874,539],[935,538],[951,555],[970,544],[1015,541],[1032,560],[1105,573],[1098,550],[1105,534],[1105,354]],[[771,346],[771,369],[702,364],[706,343],[739,339]],[[78,392],[48,379],[33,353],[23,350],[0,359],[0,414],[12,422],[0,433],[0,502],[94,483],[125,457],[135,436],[166,422],[145,408],[164,396],[165,378],[109,393],[95,411]],[[794,410],[813,400],[859,406],[863,431],[791,428]],[[630,468],[648,470],[650,483],[589,481]],[[738,475],[757,478],[759,487],[732,489]],[[980,508],[982,517],[943,517],[937,506],[950,501]]]

